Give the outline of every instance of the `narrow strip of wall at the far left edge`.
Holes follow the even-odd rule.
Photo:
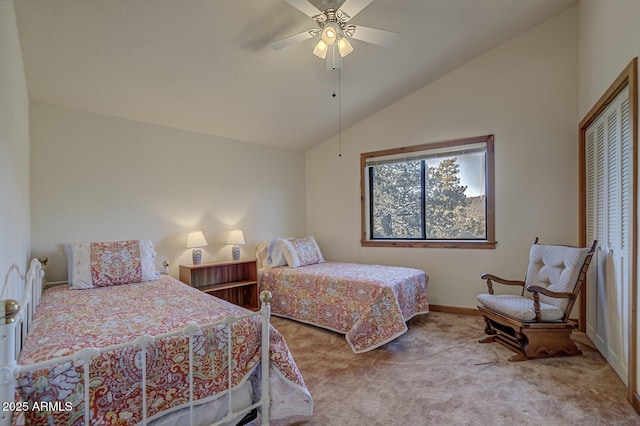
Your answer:
[[[29,256],[29,98],[12,1],[0,1],[0,299]],[[17,269],[16,269],[17,268]]]

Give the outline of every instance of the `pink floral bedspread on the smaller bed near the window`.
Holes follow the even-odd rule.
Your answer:
[[[274,315],[344,333],[356,353],[390,342],[407,320],[429,312],[428,281],[418,269],[353,263],[260,271]]]

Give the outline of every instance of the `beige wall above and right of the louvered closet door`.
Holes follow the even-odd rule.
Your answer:
[[[637,0],[580,0],[580,72],[578,73],[580,119],[589,112],[629,62],[634,57],[640,56],[639,16],[640,2]],[[640,229],[636,232],[640,234]],[[637,262],[640,262],[640,259],[637,259]],[[640,309],[636,312],[640,314]],[[639,330],[640,328],[636,332]],[[640,343],[640,339],[636,341]],[[640,348],[636,354],[637,365]],[[640,369],[637,373],[636,387],[632,389],[636,394],[638,393],[637,385],[640,383]]]

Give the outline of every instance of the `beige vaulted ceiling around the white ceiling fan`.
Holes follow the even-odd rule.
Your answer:
[[[313,40],[267,46],[316,27],[283,0],[15,0],[32,100],[300,150],[576,3],[375,0],[351,22],[396,44],[328,71]]]

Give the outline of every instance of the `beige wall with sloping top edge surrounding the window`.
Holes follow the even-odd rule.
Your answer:
[[[577,32],[573,8],[343,132],[342,158],[335,139],[310,149],[307,226],[325,257],[424,269],[431,303],[475,307],[481,273],[524,277],[536,235],[576,244]],[[495,250],[360,247],[360,153],[484,134],[495,134]]]

